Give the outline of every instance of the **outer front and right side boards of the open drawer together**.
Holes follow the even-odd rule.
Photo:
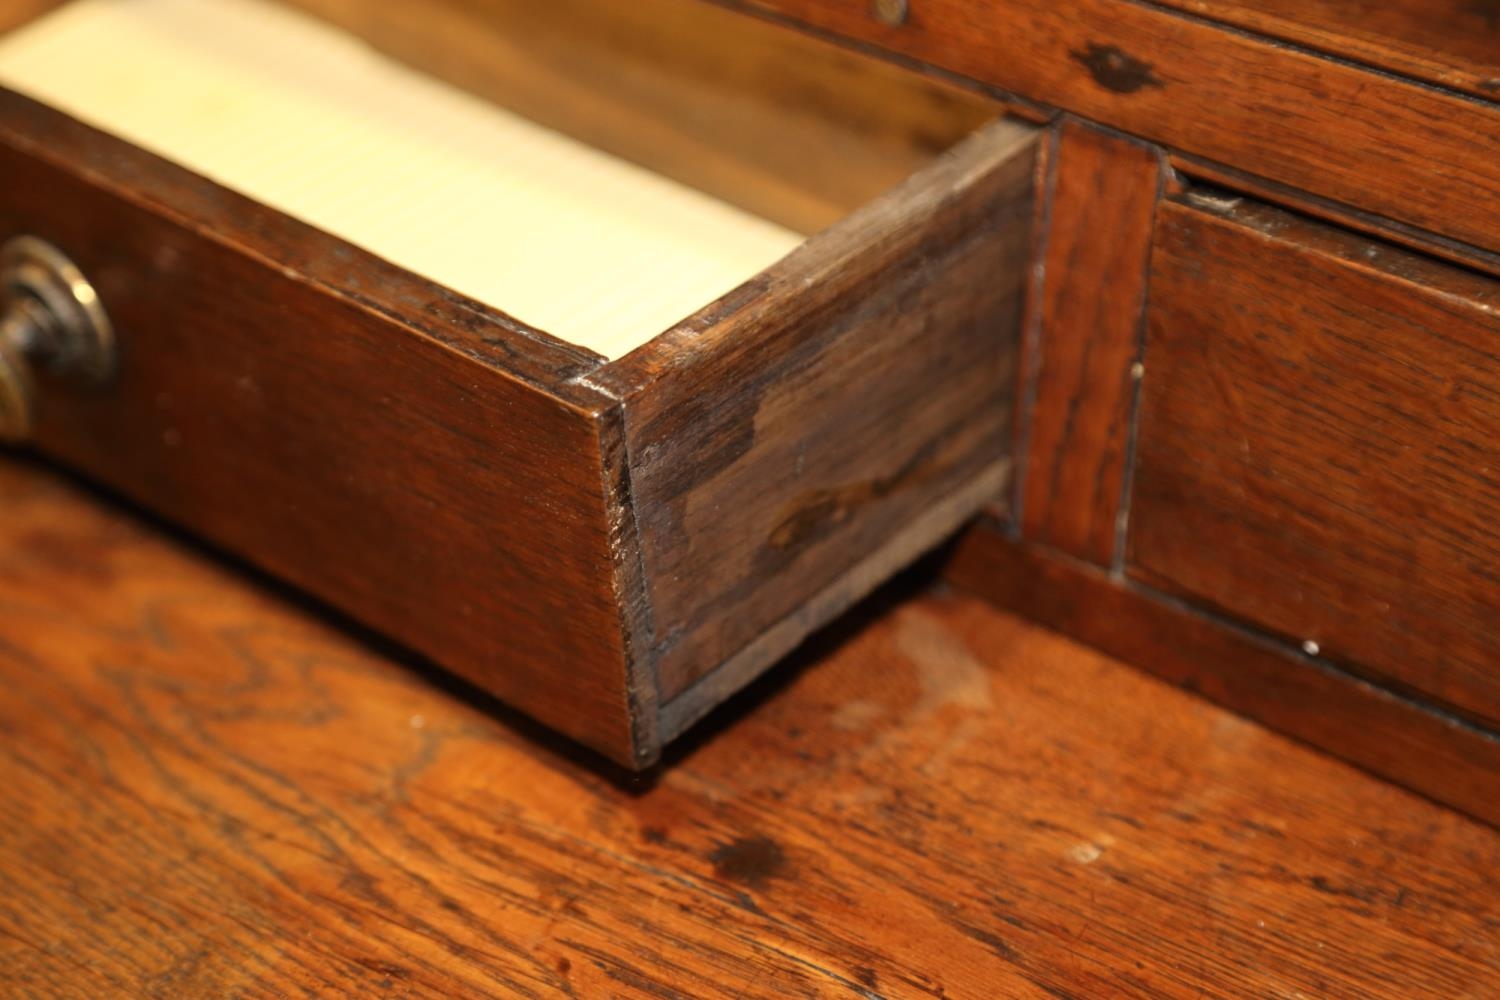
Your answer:
[[[1038,132],[998,121],[614,363],[0,91],[94,282],[36,445],[630,766],[998,496]]]

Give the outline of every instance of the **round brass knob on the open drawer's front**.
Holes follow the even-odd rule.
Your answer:
[[[51,243],[16,237],[0,249],[0,441],[32,436],[42,367],[84,382],[114,370],[114,330],[93,285]]]

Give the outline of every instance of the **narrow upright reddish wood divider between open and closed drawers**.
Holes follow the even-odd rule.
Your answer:
[[[1042,277],[1028,310],[1022,532],[1114,562],[1156,198],[1156,150],[1082,121],[1059,129]],[[1035,324],[1035,331],[1032,331]]]

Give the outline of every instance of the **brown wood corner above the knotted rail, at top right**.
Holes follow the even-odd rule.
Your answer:
[[[1494,0],[1156,0],[1480,97],[1500,97]]]

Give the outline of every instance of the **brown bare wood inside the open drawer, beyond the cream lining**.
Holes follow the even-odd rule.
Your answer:
[[[702,0],[286,0],[434,76],[800,232],[998,105]]]

